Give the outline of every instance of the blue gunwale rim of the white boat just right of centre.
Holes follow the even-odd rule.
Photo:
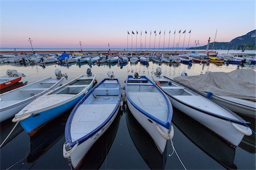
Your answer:
[[[148,80],[148,82],[152,83],[152,86],[154,86],[164,97],[164,99],[166,100],[166,103],[167,103],[167,108],[168,108],[168,116],[167,116],[167,120],[166,122],[163,122],[161,120],[159,120],[158,118],[152,116],[150,113],[147,113],[146,111],[144,111],[143,109],[139,108],[138,105],[136,105],[129,97],[129,93],[127,91],[127,86],[132,86],[132,85],[129,85],[127,84],[128,82],[128,79],[129,78],[133,78],[132,75],[128,75],[127,76],[127,80],[126,80],[126,88],[125,88],[125,93],[126,93],[126,96],[127,96],[127,99],[130,101],[130,103],[136,108],[138,109],[139,112],[141,112],[142,114],[144,114],[145,116],[147,116],[148,118],[151,118],[152,120],[154,120],[156,123],[158,123],[159,125],[162,125],[164,128],[166,129],[170,129],[170,125],[171,125],[171,120],[172,120],[172,108],[171,108],[171,101],[168,99],[168,97],[164,94],[164,92],[158,87],[155,85],[155,83],[152,83],[150,79],[148,79],[146,76],[141,76],[141,78],[144,78],[146,80]],[[137,86],[143,86],[143,83],[141,84],[138,84]],[[146,85],[144,85],[146,86]]]

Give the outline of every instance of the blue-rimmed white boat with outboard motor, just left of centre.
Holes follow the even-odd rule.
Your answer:
[[[114,121],[121,101],[121,86],[114,79],[102,80],[77,103],[65,126],[63,156],[78,168],[89,148]]]

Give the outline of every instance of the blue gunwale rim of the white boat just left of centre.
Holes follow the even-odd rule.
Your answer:
[[[117,109],[119,108],[119,104],[120,104],[120,101],[121,101],[121,86],[120,86],[120,83],[118,81],[118,79],[113,79],[113,80],[117,80],[117,84],[119,85],[119,95],[118,95],[118,103],[117,105],[115,106],[113,112],[110,114],[110,116],[100,125],[98,126],[96,129],[94,129],[93,131],[91,131],[90,133],[84,135],[84,137],[80,138],[80,139],[77,139],[75,142],[72,142],[72,138],[71,138],[71,131],[70,131],[70,128],[71,128],[71,122],[72,122],[72,119],[73,119],[73,116],[75,115],[76,113],[76,110],[79,108],[79,106],[84,103],[84,101],[89,97],[90,94],[92,94],[92,92],[98,87],[100,86],[103,82],[105,82],[105,80],[109,80],[109,79],[104,79],[102,80],[100,83],[97,84],[97,86],[94,86],[84,97],[82,97],[82,99],[75,105],[75,108],[73,108],[71,114],[69,115],[68,117],[68,121],[66,123],[66,126],[65,126],[65,141],[68,142],[68,141],[71,141],[71,147],[73,147],[74,145],[76,145],[76,141],[79,142],[79,145],[83,142],[85,142],[87,139],[89,139],[90,137],[92,137],[94,134],[96,134],[98,131],[101,130],[101,128],[103,126],[105,126],[109,121],[110,119],[114,116],[115,112],[117,112]]]

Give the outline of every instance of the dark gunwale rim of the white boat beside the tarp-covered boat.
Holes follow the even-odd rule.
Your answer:
[[[183,84],[181,84],[181,83],[179,83],[179,82],[177,82],[177,81],[175,81],[175,80],[173,80],[173,79],[171,79],[171,78],[168,78],[167,76],[164,76],[164,78],[170,79],[170,80],[174,81],[175,83],[178,83],[178,84],[180,84],[181,86],[184,86],[185,88],[188,88],[189,90],[195,92],[195,93],[198,94],[199,96],[205,97],[204,95],[200,94],[199,92],[197,92],[197,91],[195,91],[195,90],[192,90],[191,88],[189,88],[189,87],[187,87],[187,86],[185,86],[185,85],[183,85]],[[157,85],[157,86],[158,86],[158,85]],[[160,88],[161,88],[161,87],[160,87]],[[162,88],[161,88],[161,89],[162,89]],[[164,90],[163,90],[163,91],[164,91]],[[224,106],[222,106],[222,105],[220,105],[220,104],[217,104],[216,102],[212,101],[211,99],[208,99],[207,97],[205,97],[205,98],[207,98],[208,100],[212,101],[214,104],[218,105],[219,107],[225,109],[225,111],[229,112],[229,113],[232,114],[234,117],[236,117],[236,118],[238,119],[238,121],[237,121],[237,120],[234,120],[233,118],[228,118],[228,117],[225,117],[225,116],[220,116],[220,115],[214,114],[214,113],[212,113],[212,112],[207,112],[207,111],[204,111],[204,110],[202,110],[202,109],[195,108],[195,107],[193,107],[192,105],[188,105],[188,104],[184,103],[183,101],[181,101],[181,100],[179,100],[179,99],[176,99],[176,97],[173,97],[173,96],[167,94],[166,91],[164,91],[164,93],[165,93],[167,96],[170,96],[172,99],[178,101],[179,103],[184,104],[185,106],[187,106],[187,107],[189,107],[189,108],[195,109],[196,111],[200,111],[200,112],[203,112],[203,113],[205,113],[205,114],[208,114],[209,116],[217,117],[217,118],[220,118],[221,120],[229,121],[229,122],[231,122],[231,123],[234,122],[234,123],[236,123],[236,124],[243,125],[243,126],[246,126],[246,127],[251,124],[250,122],[246,122],[245,120],[243,120],[240,116],[238,116],[236,113],[232,112],[230,109],[228,109],[228,108],[226,108],[226,107],[224,107]]]

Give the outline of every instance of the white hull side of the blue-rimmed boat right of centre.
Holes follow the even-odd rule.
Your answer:
[[[138,109],[134,107],[133,104],[130,103],[129,99],[126,99],[127,105],[131,111],[131,114],[135,117],[135,119],[142,125],[142,127],[147,131],[147,133],[154,140],[156,146],[158,147],[161,154],[164,152],[167,139],[163,138],[157,129],[157,124],[154,120],[151,120],[149,117],[145,116],[143,113],[139,112]],[[168,129],[164,128],[161,125],[158,125],[161,130],[163,130],[166,134],[168,134]]]

